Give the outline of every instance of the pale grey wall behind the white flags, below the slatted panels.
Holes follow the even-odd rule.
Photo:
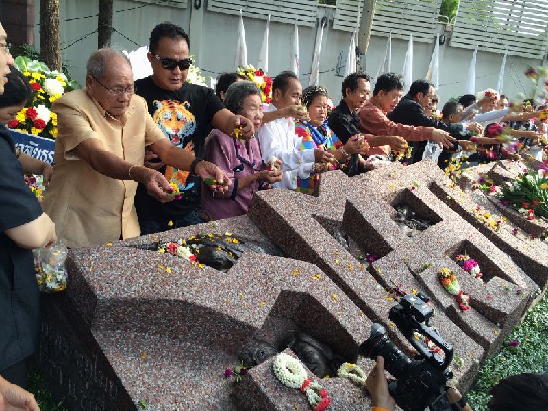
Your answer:
[[[197,57],[197,64],[203,75],[216,77],[216,73],[232,70],[234,54],[236,51],[236,35],[238,30],[238,17],[229,14],[219,14],[204,10],[206,5],[202,1],[201,10],[195,10],[193,1],[188,2],[188,8],[176,8],[164,5],[148,5],[125,12],[114,13],[114,27],[122,34],[138,42],[140,45],[147,45],[149,34],[154,25],[161,21],[173,21],[190,31],[192,42],[191,53]],[[97,14],[98,0],[76,1],[65,0],[60,4],[60,19],[70,19],[79,16],[90,16]],[[133,8],[146,5],[142,1],[116,0],[114,10]],[[332,18],[333,8],[320,7],[319,18],[326,15]],[[36,5],[36,21],[39,21],[38,3]],[[203,24],[192,26],[190,30],[191,14],[194,21],[203,19]],[[256,64],[264,34],[266,21],[256,18],[245,18],[245,31],[247,38],[247,55],[249,64]],[[323,49],[320,71],[320,83],[327,86],[334,101],[340,97],[340,84],[343,77],[337,77],[336,67],[338,55],[341,51],[347,52],[351,33],[332,29],[332,21],[323,34]],[[97,28],[97,17],[84,18],[79,20],[64,21],[61,23],[62,47],[71,44],[77,38],[84,36]],[[468,74],[472,51],[451,47],[450,33],[443,32],[444,26],[440,25],[440,32],[447,36],[445,45],[440,47],[440,102],[444,103],[451,97],[464,93],[464,84]],[[290,40],[292,38],[293,26],[285,23],[271,22],[270,43],[269,43],[269,74],[276,75],[279,71],[287,69],[290,62]],[[36,38],[38,38],[38,26],[36,27]],[[129,40],[120,34],[114,33],[113,44],[127,51],[136,49]],[[314,42],[316,39],[316,27],[299,26],[299,60],[301,62],[301,82],[308,86],[310,69],[312,66],[312,55],[314,53]],[[379,67],[379,60],[384,53],[386,38],[371,36],[368,54],[362,56],[361,65],[369,74],[375,75]],[[91,51],[97,48],[97,33],[92,34],[77,42],[75,45],[62,51],[62,58],[71,66],[73,77],[83,82],[85,76],[86,59]],[[403,59],[406,55],[407,41],[393,39],[392,69],[401,72]],[[414,43],[414,75],[415,79],[423,78],[426,75],[428,64],[432,56],[434,44],[423,42]],[[343,60],[343,64],[346,58]],[[506,62],[506,75],[502,92],[510,97],[516,97],[518,92],[532,92],[533,86],[523,75],[529,64],[540,65],[540,60],[512,57]],[[494,88],[499,77],[501,56],[497,53],[478,52],[476,66],[476,91],[485,88]],[[344,69],[343,69],[344,73]]]

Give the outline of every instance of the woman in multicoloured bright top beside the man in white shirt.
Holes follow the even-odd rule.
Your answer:
[[[308,86],[303,90],[302,102],[308,110],[310,121],[296,121],[295,133],[302,138],[299,150],[321,149],[330,151],[337,163],[331,164],[331,169],[345,169],[352,154],[366,155],[369,145],[362,136],[353,136],[343,145],[337,136],[327,125],[327,114],[330,110],[327,104],[329,97],[327,89],[323,86]],[[318,173],[310,178],[297,178],[298,192],[314,194],[316,183],[320,179],[319,173],[325,170],[318,170]]]

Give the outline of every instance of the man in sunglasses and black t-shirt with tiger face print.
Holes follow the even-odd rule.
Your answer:
[[[203,157],[206,137],[212,128],[232,134],[234,128],[245,121],[246,138],[253,136],[253,123],[236,116],[225,108],[214,90],[186,82],[190,60],[190,39],[178,25],[160,23],[150,35],[148,58],[153,74],[137,80],[136,93],[147,101],[149,112],[158,127],[177,147]],[[158,161],[154,154],[145,160]],[[162,162],[149,164],[164,173],[167,179],[176,179],[185,186],[182,199],[160,203],[147,194],[139,184],[135,208],[141,234],[151,234],[168,229],[203,223],[197,214],[201,199],[201,182],[198,177],[166,167]]]

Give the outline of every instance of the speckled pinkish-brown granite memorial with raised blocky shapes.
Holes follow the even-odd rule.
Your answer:
[[[393,221],[402,202],[435,224],[407,237]],[[408,350],[388,320],[395,304],[388,290],[401,285],[432,297],[432,325],[462,358],[451,367],[466,390],[548,276],[546,245],[513,236],[506,221],[499,231],[486,227],[475,217],[477,206],[497,212],[486,197],[462,193],[432,162],[394,163],[352,179],[326,173],[318,197],[260,192],[248,216],[216,226],[75,249],[67,292],[44,301],[40,366],[71,410],[130,410],[142,408],[139,403],[149,410],[306,410],[302,393],[273,378],[271,360],[237,388],[223,370],[254,339],[283,350],[297,331],[354,360],[374,321]],[[349,236],[349,250],[332,237],[334,230]],[[286,258],[246,253],[223,273],[126,247],[197,232],[268,240]],[[453,262],[465,252],[481,266],[485,284]],[[365,253],[379,259],[367,264]],[[442,266],[456,273],[471,310],[459,310],[440,286]],[[372,362],[359,357],[358,364],[369,371]],[[333,399],[329,409],[371,406],[364,388],[347,380],[321,384]]]

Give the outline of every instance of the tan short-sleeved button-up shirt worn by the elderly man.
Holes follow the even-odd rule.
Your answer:
[[[80,160],[75,148],[97,138],[106,151],[132,164],[143,164],[145,146],[164,138],[145,99],[132,97],[120,119],[110,116],[86,90],[75,90],[53,103],[58,115],[53,179],[42,208],[67,247],[88,247],[140,234],[133,205],[137,183],[112,179]]]

